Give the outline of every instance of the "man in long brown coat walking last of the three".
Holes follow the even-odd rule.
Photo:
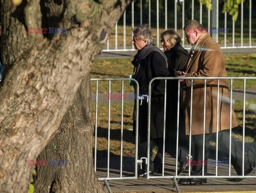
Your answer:
[[[186,72],[182,72],[183,77],[227,77],[225,68],[225,58],[218,43],[211,38],[205,28],[196,20],[186,23],[185,39],[193,45],[187,63]],[[178,75],[178,74],[177,74]],[[191,80],[186,82],[186,135],[189,135],[191,127],[191,140],[195,149],[195,163],[203,162],[203,133],[204,133],[204,79],[193,81],[193,102],[190,112]],[[229,129],[230,129],[230,98],[228,82],[225,79],[219,80],[219,107],[217,108],[218,80],[206,80],[205,99],[205,156],[207,161],[209,156],[209,145],[211,139],[216,139],[218,129],[219,149],[229,155]],[[191,122],[190,122],[190,114]],[[217,119],[218,114],[218,119]],[[191,125],[190,125],[191,123]],[[235,113],[231,110],[231,128],[237,127]],[[238,175],[242,175],[242,148],[237,145],[234,138],[231,138],[231,164]],[[252,172],[255,167],[254,155],[244,159],[244,175]],[[204,167],[204,175],[207,175],[207,166]],[[197,164],[193,166],[194,172],[191,175],[202,175],[203,166]],[[206,179],[181,179],[181,184],[206,183]]]

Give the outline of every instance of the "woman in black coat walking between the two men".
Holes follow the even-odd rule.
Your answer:
[[[168,70],[171,77],[175,77],[175,71],[185,71],[188,51],[181,45],[181,37],[178,32],[168,29],[161,33],[161,45],[164,54],[167,57]],[[180,88],[182,85],[180,85]],[[178,80],[167,81],[167,104],[166,104],[166,140],[165,151],[171,156],[176,157],[177,140],[177,112],[178,112]],[[188,139],[185,135],[185,114],[183,110],[182,93],[180,93],[179,108],[179,156],[180,169],[178,174],[186,169],[188,163]],[[161,171],[161,162],[163,158],[163,146],[159,146],[156,158],[154,160],[155,169]]]

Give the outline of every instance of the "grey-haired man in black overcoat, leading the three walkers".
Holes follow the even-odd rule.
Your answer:
[[[167,77],[167,59],[162,51],[154,43],[153,33],[148,25],[139,26],[133,31],[132,44],[138,53],[134,56],[132,64],[135,68],[135,80],[139,83],[139,95],[148,95],[148,84],[155,77]],[[151,116],[150,116],[150,160],[149,174],[154,173],[154,164],[151,160],[152,146],[163,139],[164,125],[164,81],[156,80],[151,85]],[[137,90],[135,88],[135,90]],[[135,107],[135,106],[134,106]],[[135,108],[134,108],[135,115]],[[135,126],[135,116],[133,117]],[[148,103],[142,99],[139,105],[139,145],[138,157],[147,157],[147,128],[148,128]],[[135,131],[135,127],[133,127]],[[142,170],[138,171],[138,177],[146,175],[145,160]]]

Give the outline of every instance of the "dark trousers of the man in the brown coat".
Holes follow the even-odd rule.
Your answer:
[[[198,163],[198,161],[203,161],[203,135],[191,136],[192,142],[194,144],[195,152],[193,160]],[[205,157],[204,160],[207,161],[209,157],[209,145],[211,140],[216,140],[216,133],[205,134]],[[229,157],[229,130],[223,130],[218,132],[218,152],[226,154]],[[243,169],[243,149],[242,147],[231,137],[231,164],[238,175],[242,175]],[[247,155],[244,155],[244,171],[252,167],[251,161]],[[207,166],[204,166],[204,175],[207,175]],[[192,175],[202,175],[203,166],[193,166]]]

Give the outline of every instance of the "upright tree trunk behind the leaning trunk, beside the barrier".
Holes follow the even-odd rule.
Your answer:
[[[37,167],[35,192],[103,192],[92,167],[93,124],[89,88],[90,76],[87,75],[58,132],[38,156],[37,160],[48,161],[48,166]],[[49,160],[50,165],[54,163],[55,166],[49,166]],[[68,165],[59,166],[62,161],[63,164],[68,161]]]

